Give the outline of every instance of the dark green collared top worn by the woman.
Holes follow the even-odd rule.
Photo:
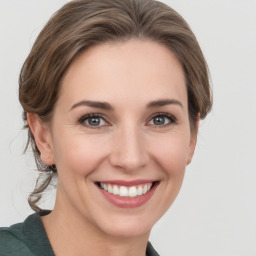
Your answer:
[[[0,256],[54,256],[40,215],[32,214],[22,223],[0,228]],[[150,243],[147,256],[159,256]]]

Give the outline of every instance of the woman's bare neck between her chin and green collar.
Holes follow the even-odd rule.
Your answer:
[[[65,202],[60,191],[54,210],[42,222],[56,256],[146,254],[149,233],[136,237],[106,234]]]

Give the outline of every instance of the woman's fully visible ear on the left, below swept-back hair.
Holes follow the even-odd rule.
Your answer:
[[[49,127],[34,113],[27,113],[27,121],[40,151],[41,160],[46,165],[53,165],[55,161]]]

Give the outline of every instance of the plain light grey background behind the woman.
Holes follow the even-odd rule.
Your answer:
[[[0,226],[32,211],[36,178],[23,155],[18,74],[42,26],[64,0],[0,0]],[[256,255],[256,1],[169,0],[191,25],[212,76],[214,108],[202,122],[181,192],[153,229],[163,256]],[[50,193],[45,207],[53,205]]]

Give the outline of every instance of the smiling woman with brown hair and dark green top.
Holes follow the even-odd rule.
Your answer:
[[[153,0],[75,0],[39,34],[20,74],[38,179],[35,214],[0,231],[1,255],[158,255],[148,242],[211,108],[189,26]],[[54,209],[38,206],[57,177]]]

